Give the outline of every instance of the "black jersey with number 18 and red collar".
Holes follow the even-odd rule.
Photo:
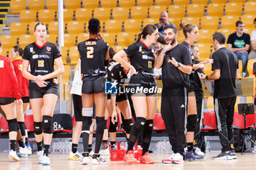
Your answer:
[[[54,72],[54,59],[61,57],[61,53],[56,45],[51,42],[45,42],[41,47],[36,42],[27,45],[24,49],[23,59],[30,62],[31,74],[34,76],[45,75]],[[54,81],[53,81],[54,80]],[[57,85],[56,78],[45,80],[47,87]],[[29,80],[29,89],[39,88],[34,80]]]

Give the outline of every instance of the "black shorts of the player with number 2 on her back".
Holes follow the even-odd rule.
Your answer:
[[[93,93],[103,93],[105,92],[105,76],[90,78],[83,78],[82,93],[93,94]]]

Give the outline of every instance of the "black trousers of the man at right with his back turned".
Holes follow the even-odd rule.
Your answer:
[[[222,152],[230,150],[230,144],[234,144],[233,117],[236,96],[230,98],[214,98],[219,140],[222,144]]]

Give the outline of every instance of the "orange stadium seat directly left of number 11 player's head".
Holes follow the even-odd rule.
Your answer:
[[[135,42],[134,32],[119,32],[116,36],[116,42],[119,46],[128,46]]]

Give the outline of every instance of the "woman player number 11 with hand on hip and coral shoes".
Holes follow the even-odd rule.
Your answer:
[[[157,28],[153,25],[147,25],[138,35],[137,42],[129,45],[127,48],[119,51],[113,56],[113,59],[118,63],[121,63],[121,66],[125,69],[131,69],[131,79],[129,80],[128,89],[133,93],[132,103],[137,118],[132,127],[127,154],[124,157],[124,161],[128,163],[137,161],[132,155],[132,149],[142,130],[143,155],[140,158],[140,163],[154,163],[148,155],[148,147],[153,131],[154,113],[157,109],[157,94],[155,91],[150,93],[146,92],[146,90],[157,88],[154,80],[154,55],[156,53],[154,53],[151,45],[157,42],[158,37]],[[125,57],[130,59],[130,63],[124,60]]]

